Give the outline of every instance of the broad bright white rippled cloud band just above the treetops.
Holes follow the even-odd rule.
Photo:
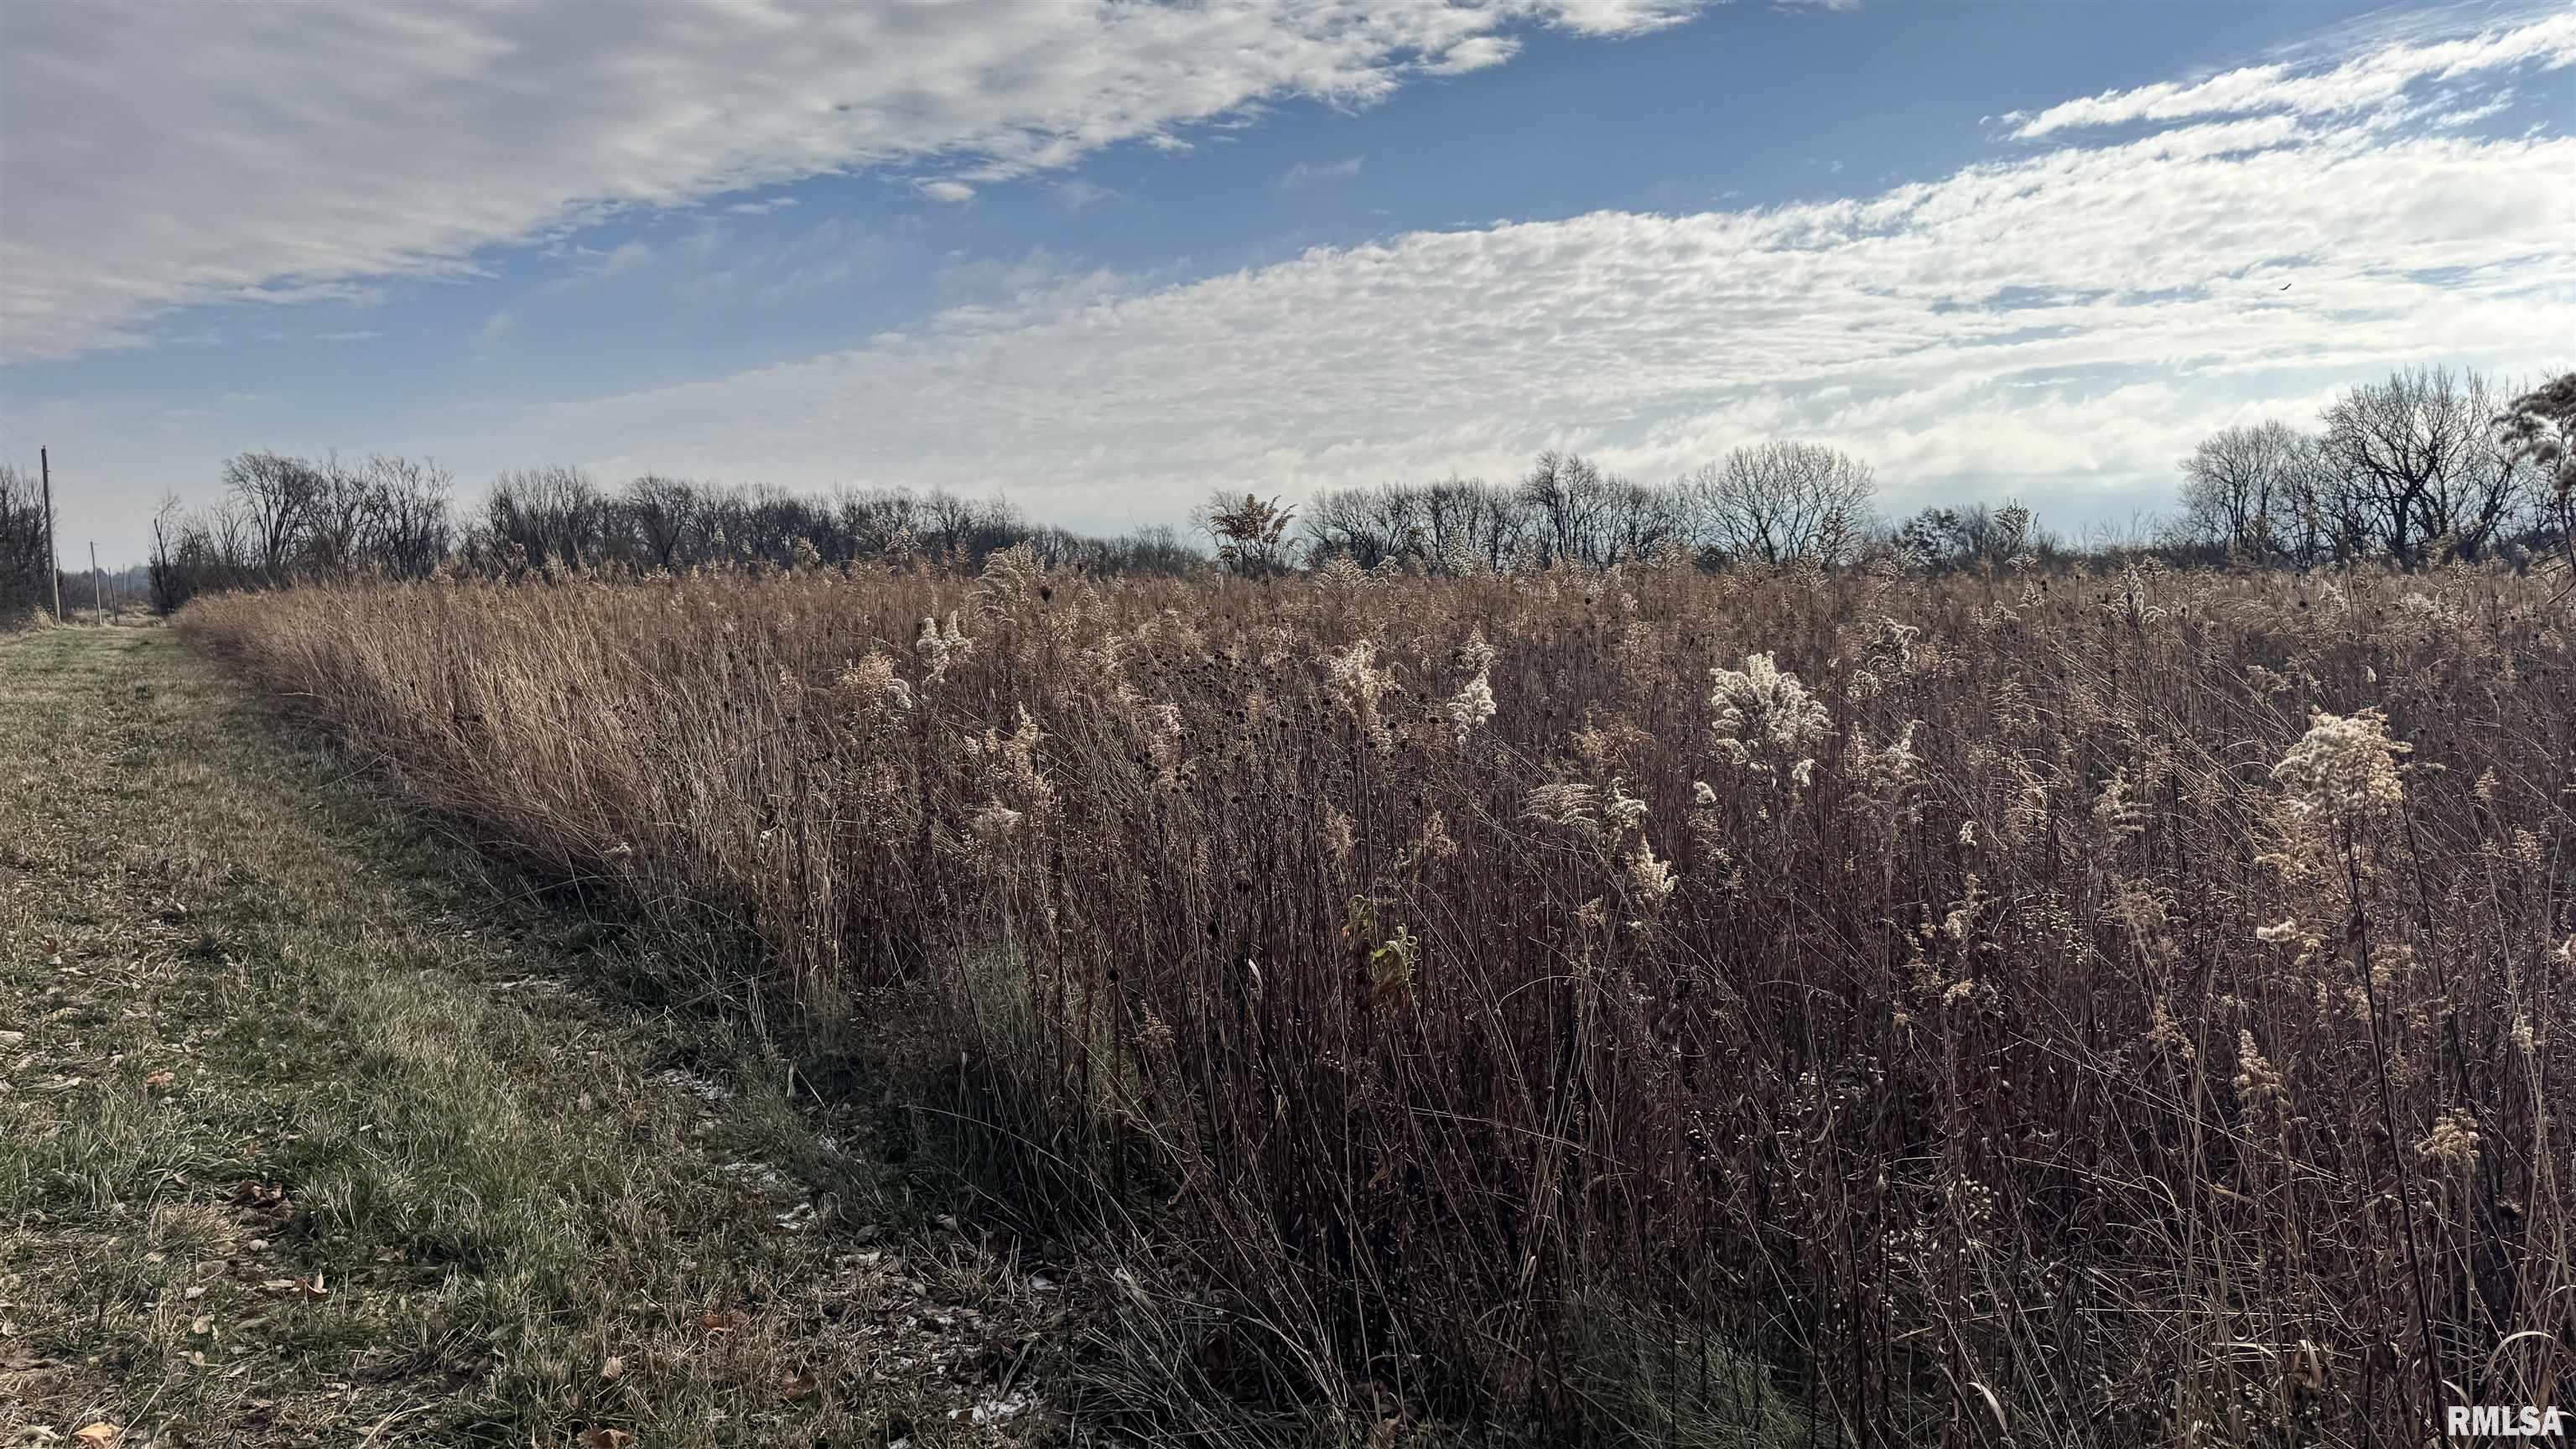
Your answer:
[[[1577,446],[1667,477],[1759,436],[1862,451],[1891,503],[2159,505],[2244,413],[2576,335],[2576,139],[2267,116],[1878,196],[1414,232],[1182,286],[987,278],[912,335],[546,407],[518,456],[994,485],[1077,523],[1216,482],[1507,477]],[[2293,281],[2293,291],[2280,291]]]

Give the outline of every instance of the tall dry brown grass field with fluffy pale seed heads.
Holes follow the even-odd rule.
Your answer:
[[[1175,1204],[1216,1392],[1868,1444],[2566,1395],[2537,583],[1012,552],[183,627],[564,874],[909,982],[1023,1201]]]

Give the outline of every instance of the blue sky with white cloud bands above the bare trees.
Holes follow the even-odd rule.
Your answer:
[[[0,462],[64,557],[245,449],[1007,495],[2172,503],[2398,366],[2576,366],[2576,8],[10,0]]]

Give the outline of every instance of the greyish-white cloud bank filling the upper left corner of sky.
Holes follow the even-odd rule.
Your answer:
[[[1548,23],[1700,0],[551,0],[0,8],[0,353],[191,302],[440,276],[616,206],[940,157],[930,196],[1311,95],[1368,103]]]

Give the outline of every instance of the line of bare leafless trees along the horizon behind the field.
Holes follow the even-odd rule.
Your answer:
[[[976,570],[1012,547],[1084,572],[1188,572],[1216,562],[1265,575],[1347,557],[1363,570],[1607,565],[1680,549],[1728,562],[1839,565],[1868,544],[1919,567],[2053,562],[2076,552],[2164,552],[2218,562],[2316,567],[2388,559],[2561,557],[2576,570],[2576,374],[2499,400],[2476,371],[2396,371],[2336,397],[2316,431],[2226,428],[2182,462],[2179,511],[2084,547],[2022,503],[1875,511],[1873,469],[1801,441],[1741,446],[1669,482],[1636,482],[1571,451],[1546,451],[1507,482],[1332,487],[1288,508],[1218,492],[1193,513],[1195,536],[1139,529],[1097,539],[1033,523],[1012,503],[842,487],[796,495],[670,474],[608,485],[574,467],[510,469],[471,505],[433,462],[304,459],[276,451],[224,462],[214,505],[155,518],[152,596],[162,608],[211,588],[283,588],[361,572],[425,578],[459,570],[523,578],[559,570],[817,567],[920,559]],[[33,480],[0,467],[0,611],[44,598],[44,518]]]

